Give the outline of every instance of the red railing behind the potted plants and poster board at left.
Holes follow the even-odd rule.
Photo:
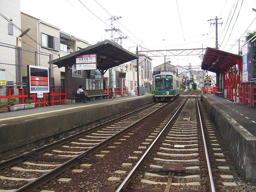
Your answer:
[[[11,94],[12,93],[12,89],[7,89],[7,95],[6,96],[0,96],[0,99],[8,99],[8,98],[12,98],[12,97],[21,98],[20,99],[20,103],[17,103],[17,104],[24,104],[25,103],[25,98],[28,98],[28,95],[24,94],[24,91],[26,89],[18,88],[18,90],[20,90],[19,91],[20,92],[19,95],[12,95]],[[62,90],[62,88],[58,88],[58,93],[54,93],[54,89],[53,88],[50,89],[50,92],[51,92],[51,105],[54,105],[54,103],[59,103],[59,105],[61,105],[61,102],[66,100],[66,98],[67,98],[67,88],[64,88],[64,90],[65,90],[64,93],[62,93],[61,90]],[[65,96],[64,99],[61,99],[62,95]],[[48,96],[49,96],[49,93],[44,93],[42,101],[36,102],[37,94],[30,94],[30,98],[31,98],[31,100],[33,100],[33,103],[35,103],[36,105],[42,104],[43,107],[45,107],[45,105],[49,105],[49,100],[46,100],[46,98],[48,98]],[[59,96],[59,97],[58,97],[57,100],[54,100],[54,96]],[[8,105],[6,107],[8,107]]]

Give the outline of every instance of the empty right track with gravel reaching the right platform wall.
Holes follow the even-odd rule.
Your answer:
[[[116,192],[247,191],[239,187],[246,184],[197,102],[184,101]],[[255,190],[250,183],[247,188]]]

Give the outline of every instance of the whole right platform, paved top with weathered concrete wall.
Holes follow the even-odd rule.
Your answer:
[[[212,94],[201,100],[242,178],[256,182],[256,108]]]

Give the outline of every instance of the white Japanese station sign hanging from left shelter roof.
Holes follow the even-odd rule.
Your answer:
[[[76,56],[76,70],[94,70],[97,63],[97,54]]]

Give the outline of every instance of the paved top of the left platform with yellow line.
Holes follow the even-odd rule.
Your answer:
[[[139,97],[146,97],[146,96],[147,95],[119,97],[114,99],[87,101],[87,103],[54,105],[50,107],[41,107],[41,108],[34,108],[34,109],[28,109],[28,110],[22,110],[22,111],[0,113],[0,126],[6,123],[15,123],[17,121],[26,121],[26,120],[31,120],[38,117],[52,116],[52,115],[57,115],[57,114],[66,113],[70,111],[81,110],[83,108],[85,110],[88,110],[90,108],[99,107],[99,105],[110,105],[115,102],[122,102],[124,100],[136,100]]]

